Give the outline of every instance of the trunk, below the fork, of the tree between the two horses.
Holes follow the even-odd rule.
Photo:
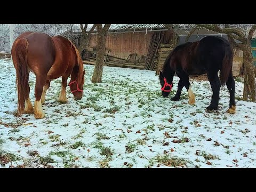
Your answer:
[[[105,46],[107,34],[100,34],[98,32],[98,42],[97,42],[97,55],[96,55],[96,64],[94,67],[94,72],[92,75],[92,83],[101,83],[104,55],[105,55]]]

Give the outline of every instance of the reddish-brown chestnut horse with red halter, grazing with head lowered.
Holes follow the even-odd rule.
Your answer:
[[[44,118],[42,104],[52,79],[62,76],[60,102],[67,102],[67,79],[71,74],[70,90],[75,99],[83,94],[84,74],[81,55],[75,45],[62,36],[26,32],[15,39],[12,46],[13,65],[18,88],[18,115],[31,114]],[[29,99],[29,72],[36,75],[35,109]]]

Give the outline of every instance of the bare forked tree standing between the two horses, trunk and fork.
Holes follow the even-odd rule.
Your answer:
[[[97,55],[96,55],[96,63],[92,75],[92,83],[100,83],[103,71],[103,62],[105,55],[105,46],[107,40],[108,29],[111,24],[105,24],[102,28],[102,24],[96,24],[98,31],[97,38]]]

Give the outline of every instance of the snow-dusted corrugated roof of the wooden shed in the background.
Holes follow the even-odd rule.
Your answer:
[[[88,24],[87,30],[89,31],[92,28],[93,24]],[[133,31],[133,30],[159,30],[165,29],[163,24],[111,24],[109,31],[118,32],[118,31]],[[93,31],[96,31],[94,29]],[[81,32],[80,26],[74,30],[75,33]]]

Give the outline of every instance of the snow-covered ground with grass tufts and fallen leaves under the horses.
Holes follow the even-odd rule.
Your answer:
[[[163,98],[155,71],[105,67],[103,83],[93,84],[94,66],[84,68],[82,100],[67,87],[68,103],[59,103],[56,79],[46,93],[46,118],[36,120],[13,115],[15,69],[0,60],[0,167],[256,167],[256,103],[238,100],[243,83],[236,82],[235,115],[226,113],[226,87],[220,110],[207,113],[208,81],[190,81],[190,106],[185,88],[178,102]],[[34,103],[34,74],[29,81]],[[174,77],[171,96],[177,84]]]

